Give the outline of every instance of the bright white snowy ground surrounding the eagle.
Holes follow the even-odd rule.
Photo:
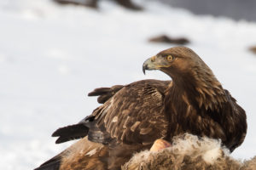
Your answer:
[[[50,134],[96,108],[86,95],[93,88],[168,79],[142,71],[145,59],[171,47],[147,42],[160,33],[189,37],[247,111],[247,138],[232,156],[256,155],[256,56],[247,51],[256,45],[255,23],[158,3],[131,12],[108,1],[95,11],[49,0],[1,0],[0,23],[0,169],[32,169],[67,147]]]

